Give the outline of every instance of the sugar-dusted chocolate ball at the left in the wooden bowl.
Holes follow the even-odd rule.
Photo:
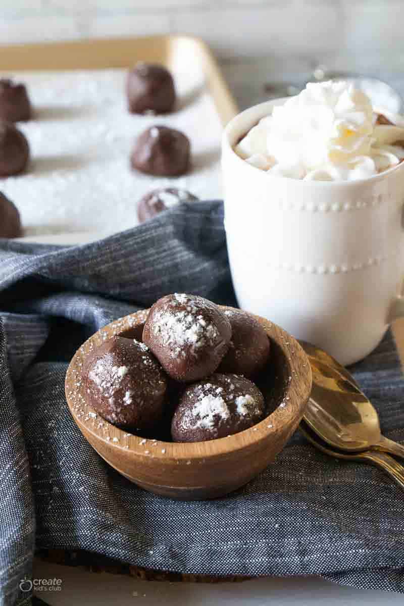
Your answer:
[[[144,343],[108,339],[85,359],[82,381],[87,404],[113,425],[145,433],[161,422],[167,382]]]

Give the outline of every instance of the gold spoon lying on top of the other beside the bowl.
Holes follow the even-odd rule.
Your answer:
[[[404,458],[404,447],[382,436],[376,408],[332,356],[301,341],[313,373],[305,421],[325,442],[346,451],[377,450]]]

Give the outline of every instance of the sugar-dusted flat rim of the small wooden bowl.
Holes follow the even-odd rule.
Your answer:
[[[224,310],[233,307],[219,306]],[[303,410],[311,391],[311,367],[305,352],[293,336],[283,328],[260,316],[250,314],[263,326],[270,339],[277,342],[288,363],[289,382],[286,386],[282,403],[265,419],[239,433],[205,442],[164,442],[151,438],[142,438],[129,431],[112,425],[99,415],[85,401],[82,391],[81,367],[84,357],[106,339],[122,335],[144,323],[148,310],[140,310],[128,316],[119,318],[98,330],[79,347],[71,359],[65,378],[65,396],[71,416],[78,425],[85,439],[85,433],[90,433],[94,442],[102,441],[109,448],[125,451],[128,456],[142,456],[155,461],[176,460],[190,464],[199,460],[211,459],[214,456],[222,458],[243,448],[259,444],[275,436],[280,427],[296,425],[296,419],[302,417]],[[248,312],[247,312],[248,313]],[[281,404],[282,404],[281,403]],[[90,442],[91,444],[91,442]]]

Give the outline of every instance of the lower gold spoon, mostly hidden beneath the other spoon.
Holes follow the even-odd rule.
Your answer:
[[[345,461],[360,461],[370,463],[372,465],[376,465],[383,471],[389,474],[389,476],[400,486],[400,488],[404,488],[404,467],[397,463],[395,459],[392,458],[389,454],[383,453],[382,451],[371,451],[365,450],[359,453],[346,454],[340,451],[331,450],[331,448],[327,448],[322,442],[319,441],[316,435],[314,435],[313,431],[311,431],[310,427],[305,423],[305,421],[301,421],[299,425],[300,431],[302,431],[303,435],[308,439],[313,446],[318,448],[322,453],[328,454],[337,459],[343,459]]]

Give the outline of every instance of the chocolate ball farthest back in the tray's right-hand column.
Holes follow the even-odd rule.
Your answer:
[[[131,113],[171,112],[176,102],[173,76],[162,65],[138,63],[128,72],[126,90]]]

